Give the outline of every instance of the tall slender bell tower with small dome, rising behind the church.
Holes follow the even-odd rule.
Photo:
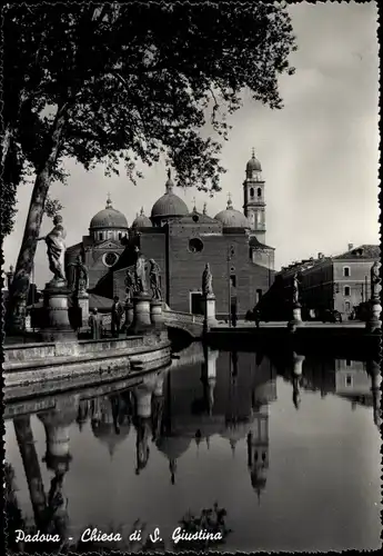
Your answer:
[[[264,202],[264,180],[262,179],[261,162],[252,157],[246,163],[246,178],[243,182],[243,211],[250,221],[252,235],[261,244],[266,240],[266,217]]]

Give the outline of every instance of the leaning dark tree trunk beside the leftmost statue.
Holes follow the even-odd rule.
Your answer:
[[[14,277],[9,295],[7,315],[7,332],[22,334],[26,326],[26,308],[28,300],[30,275],[37,248],[37,238],[40,235],[42,216],[50,187],[52,170],[58,160],[61,138],[65,122],[68,105],[58,109],[52,123],[51,145],[44,163],[37,173],[31,202],[27,217],[24,235],[16,265]]]

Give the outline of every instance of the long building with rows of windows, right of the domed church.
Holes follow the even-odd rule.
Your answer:
[[[380,260],[379,246],[352,244],[337,256],[304,259],[282,268],[275,282],[283,289],[284,299],[291,298],[291,287],[295,272],[301,282],[301,302],[306,310],[321,312],[325,309],[337,310],[347,319],[355,307],[371,297],[371,267]],[[274,297],[276,296],[276,291]]]

